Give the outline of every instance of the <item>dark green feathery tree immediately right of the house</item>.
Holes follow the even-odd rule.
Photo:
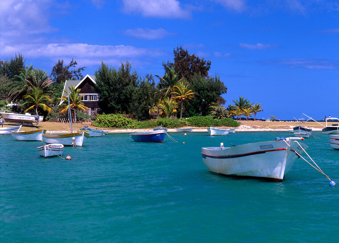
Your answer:
[[[100,94],[99,105],[105,113],[131,114],[137,101],[136,88],[138,86],[138,74],[133,71],[131,64],[121,63],[119,70],[108,67],[101,62],[101,66],[95,71],[97,85],[95,90]]]

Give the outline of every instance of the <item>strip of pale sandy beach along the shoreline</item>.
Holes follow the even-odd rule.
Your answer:
[[[240,121],[241,125],[237,127],[237,131],[288,131],[293,130],[295,126],[303,126],[306,128],[312,128],[314,131],[321,131],[325,122],[320,122],[322,125],[318,124],[317,122],[284,122],[284,121],[276,121],[276,122],[267,122],[267,121]],[[331,125],[332,123],[328,123]],[[4,125],[4,127],[9,125]],[[135,133],[141,131],[148,131],[152,130],[152,128],[142,128],[142,129],[133,129],[133,128],[107,128],[107,127],[95,127],[90,124],[73,124],[73,131],[77,131],[83,126],[88,126],[96,129],[104,129],[108,130],[109,133]],[[47,133],[69,133],[70,128],[68,123],[58,123],[58,122],[40,122],[39,125],[32,126],[23,126],[21,130],[27,131],[37,128],[44,128],[47,130]],[[222,128],[230,128],[230,127],[222,127]],[[169,132],[176,132],[174,128],[169,128]],[[207,131],[207,127],[195,127],[194,132],[202,132]]]

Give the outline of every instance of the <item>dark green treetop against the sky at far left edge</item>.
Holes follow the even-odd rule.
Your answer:
[[[11,60],[5,59],[0,61],[0,75],[5,75],[9,79],[12,79],[15,75],[19,75],[25,72],[25,61],[22,54],[15,54],[15,57],[11,57]]]

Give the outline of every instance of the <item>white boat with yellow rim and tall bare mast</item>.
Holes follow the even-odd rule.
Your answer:
[[[83,143],[88,138],[89,134],[85,131],[80,131],[77,133],[66,133],[60,135],[49,135],[43,134],[42,141],[47,144],[60,143],[64,146],[82,146]],[[74,138],[74,140],[73,140]]]

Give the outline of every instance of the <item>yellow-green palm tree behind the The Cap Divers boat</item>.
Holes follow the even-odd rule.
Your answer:
[[[48,106],[52,100],[48,97],[48,95],[44,94],[43,91],[37,87],[33,87],[33,90],[28,92],[27,95],[23,97],[27,100],[27,102],[22,105],[30,105],[25,112],[31,109],[35,109],[36,114],[38,114],[38,107],[43,109],[44,111],[50,112],[51,107]]]

